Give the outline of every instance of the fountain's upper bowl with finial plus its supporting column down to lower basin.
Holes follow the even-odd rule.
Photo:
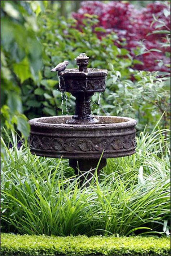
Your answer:
[[[75,58],[79,69],[66,69],[58,73],[60,77],[59,90],[70,92],[75,101],[75,115],[71,124],[92,124],[98,119],[91,114],[90,97],[95,92],[104,92],[106,86],[106,69],[87,69],[89,57],[80,53]]]

